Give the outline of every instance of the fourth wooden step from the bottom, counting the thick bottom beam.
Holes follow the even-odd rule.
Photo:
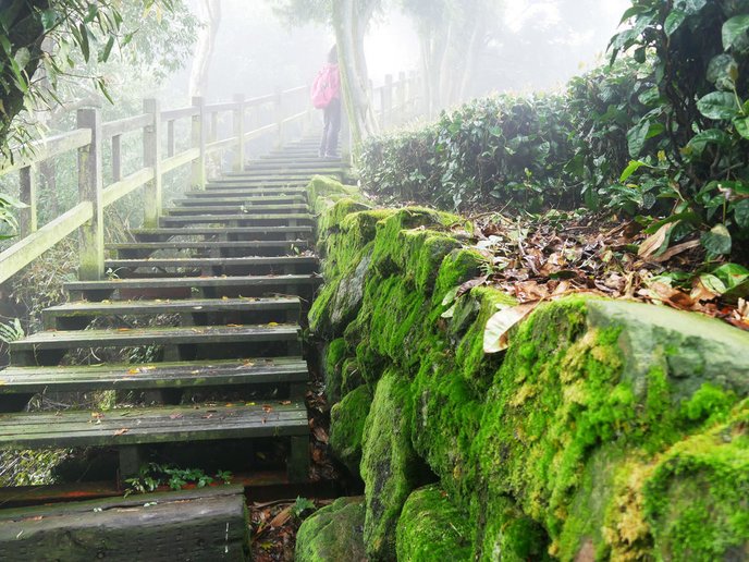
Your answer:
[[[162,279],[159,279],[160,281]],[[277,326],[195,326],[189,328],[138,328],[115,330],[41,331],[11,342],[16,351],[61,350],[71,347],[107,347],[135,345],[177,345],[188,343],[231,343],[297,341],[299,327]]]

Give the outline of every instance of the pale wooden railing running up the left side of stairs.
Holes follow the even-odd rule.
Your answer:
[[[418,113],[418,81],[402,74],[397,81],[385,78],[372,89],[374,110],[385,125],[396,124]],[[231,132],[220,135],[222,117],[231,120]],[[19,242],[0,253],[0,283],[21,271],[41,254],[78,231],[82,280],[101,279],[105,273],[103,211],[133,191],[144,188],[144,227],[156,228],[162,211],[163,175],[191,167],[191,184],[202,188],[207,163],[230,158],[231,169],[242,170],[246,146],[250,140],[270,138],[277,145],[290,140],[294,127],[303,131],[312,118],[309,88],[299,86],[269,96],[245,99],[234,96],[230,102],[206,105],[194,98],[192,106],[162,111],[159,100],[146,99],[143,113],[108,123],[101,122],[98,109],[81,109],[74,131],[34,143],[16,151],[12,162],[0,161],[0,176],[17,171],[20,200]],[[189,120],[189,146],[177,151],[176,123]],[[226,127],[224,127],[226,129]],[[140,132],[143,163],[135,172],[123,175],[122,136]],[[164,137],[165,134],[165,137]],[[109,145],[111,183],[105,185],[102,154]],[[165,154],[162,154],[165,146]],[[37,176],[46,161],[77,151],[78,204],[38,227]],[[226,155],[228,152],[228,155]]]

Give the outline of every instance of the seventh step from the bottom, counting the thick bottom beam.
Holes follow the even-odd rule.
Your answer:
[[[142,259],[108,259],[105,268],[111,269],[120,277],[124,271],[135,271],[142,268],[156,270],[177,269],[184,271],[202,271],[213,276],[220,274],[292,274],[314,273],[318,269],[318,259],[314,256],[270,256],[270,257],[189,257],[189,258],[159,258],[145,257]],[[163,272],[163,271],[161,271]],[[157,271],[158,276],[160,272]]]

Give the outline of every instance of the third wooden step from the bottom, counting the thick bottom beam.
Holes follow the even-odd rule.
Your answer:
[[[309,378],[302,357],[192,361],[147,365],[8,367],[0,372],[4,394],[145,390],[237,384],[295,383]]]

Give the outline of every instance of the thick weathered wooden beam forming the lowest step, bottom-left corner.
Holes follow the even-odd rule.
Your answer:
[[[242,487],[7,511],[2,560],[249,560]]]

